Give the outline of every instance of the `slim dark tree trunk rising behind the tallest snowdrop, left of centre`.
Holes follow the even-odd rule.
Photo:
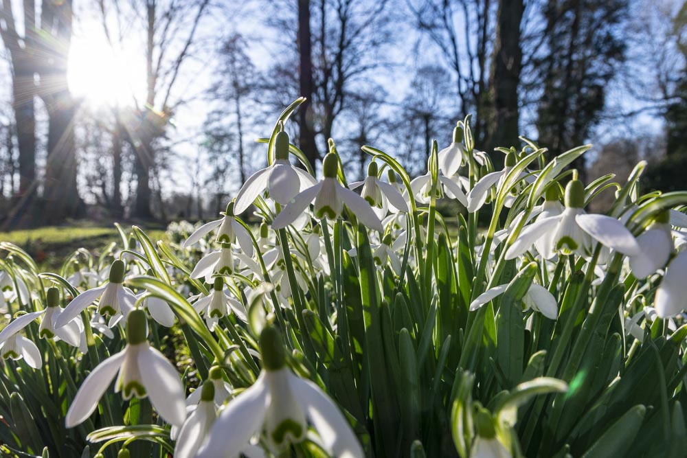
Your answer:
[[[313,49],[310,31],[310,0],[298,0],[298,89],[306,98],[298,110],[298,143],[313,170],[319,158],[313,128]]]

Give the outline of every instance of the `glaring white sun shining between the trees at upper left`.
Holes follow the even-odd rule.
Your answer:
[[[85,25],[80,32],[72,38],[69,49],[67,82],[71,95],[92,108],[133,104],[145,87],[142,53],[110,45],[97,23]]]

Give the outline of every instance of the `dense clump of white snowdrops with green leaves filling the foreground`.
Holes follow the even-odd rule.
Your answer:
[[[469,119],[427,174],[363,147],[350,183],[333,141],[322,174],[289,143],[300,102],[217,220],[117,225],[58,273],[0,243],[5,453],[684,454],[687,192],[582,183],[590,146],[478,151]]]

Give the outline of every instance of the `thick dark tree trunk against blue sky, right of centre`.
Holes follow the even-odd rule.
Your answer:
[[[523,0],[500,0],[497,18],[492,87],[495,126],[489,150],[517,146],[519,134],[518,85],[522,64],[520,23]]]

